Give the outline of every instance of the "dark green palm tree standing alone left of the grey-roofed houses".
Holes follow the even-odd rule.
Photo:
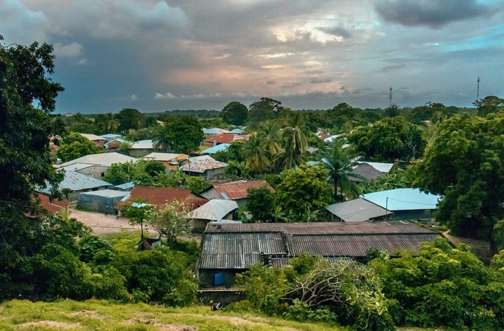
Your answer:
[[[334,139],[330,147],[322,152],[322,164],[329,174],[330,181],[334,184],[334,200],[338,201],[343,195],[358,196],[359,187],[350,178],[364,179],[353,173],[353,169],[359,163],[353,160],[353,155],[348,149],[343,148],[343,142],[340,139]],[[338,192],[341,193],[341,197],[338,196]]]

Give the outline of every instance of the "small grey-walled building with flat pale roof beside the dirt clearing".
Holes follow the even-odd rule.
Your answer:
[[[121,201],[127,192],[115,190],[101,190],[83,192],[79,194],[77,207],[86,210],[92,210],[100,213],[107,211],[109,214],[115,214],[115,205]]]

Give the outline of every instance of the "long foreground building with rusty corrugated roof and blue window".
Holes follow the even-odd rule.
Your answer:
[[[411,222],[209,223],[202,236],[197,277],[201,288],[234,285],[253,265],[282,267],[302,253],[363,261],[379,249],[418,252],[440,234]]]

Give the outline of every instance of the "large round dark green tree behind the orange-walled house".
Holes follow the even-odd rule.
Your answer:
[[[171,116],[164,126],[159,127],[154,147],[166,152],[188,153],[197,151],[204,137],[197,118]]]

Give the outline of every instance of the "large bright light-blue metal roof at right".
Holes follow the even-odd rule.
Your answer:
[[[436,209],[441,196],[420,189],[395,189],[361,195],[361,198],[388,210]]]

